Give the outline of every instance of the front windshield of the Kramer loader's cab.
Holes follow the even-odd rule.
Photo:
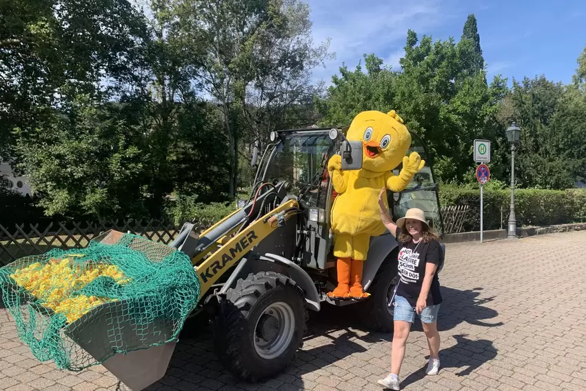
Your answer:
[[[290,193],[308,206],[325,208],[327,159],[334,154],[334,141],[327,132],[303,132],[288,136],[279,144],[265,177],[266,181],[290,183]]]

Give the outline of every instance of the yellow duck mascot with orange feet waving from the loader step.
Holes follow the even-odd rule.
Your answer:
[[[411,134],[394,110],[361,112],[350,124],[346,138],[362,141],[364,153],[360,170],[342,171],[342,157],[327,162],[332,186],[339,194],[332,208],[334,257],[338,258],[338,286],[332,298],[363,298],[362,271],[370,237],[385,232],[378,211],[381,188],[401,192],[425,165],[417,152],[405,156]],[[398,176],[392,170],[403,162]],[[352,283],[352,286],[350,284]]]

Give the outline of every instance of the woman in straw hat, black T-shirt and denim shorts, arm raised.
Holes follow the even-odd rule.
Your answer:
[[[398,374],[405,357],[405,343],[415,314],[421,319],[430,346],[430,361],[425,373],[437,374],[440,367],[437,316],[442,298],[436,270],[441,259],[441,248],[437,240],[438,235],[425,221],[423,210],[407,210],[405,217],[398,219],[395,224],[387,211],[383,196],[386,197],[384,188],[378,195],[378,206],[383,223],[398,242],[400,279],[394,294],[391,373],[385,379],[379,380],[378,384],[399,390]]]

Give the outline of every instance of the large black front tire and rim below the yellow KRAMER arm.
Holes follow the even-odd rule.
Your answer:
[[[236,377],[260,381],[282,372],[301,347],[303,290],[275,272],[249,274],[226,292],[214,322],[214,348]]]

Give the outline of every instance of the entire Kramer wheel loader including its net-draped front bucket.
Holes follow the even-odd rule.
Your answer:
[[[52,358],[59,361],[59,368],[75,370],[101,362],[128,388],[139,391],[165,375],[181,325],[187,331],[192,327],[190,321],[182,323],[188,312],[192,321],[201,319],[202,313],[211,315],[217,356],[236,377],[245,381],[258,381],[283,371],[303,343],[308,314],[321,310],[323,305],[354,305],[356,318],[376,330],[391,331],[398,245],[389,232],[370,241],[362,279],[370,296],[332,299],[327,295],[337,283],[330,229],[336,192],[327,161],[340,154],[342,170],[358,170],[363,162],[362,142],[348,141],[346,133],[347,128],[272,132],[264,152],[259,153],[255,147],[252,153],[256,177],[250,197],[241,200],[234,212],[204,232],[198,232],[193,223],[185,223],[169,246],[127,237],[114,230],[92,239],[101,245],[121,245],[125,252],[119,254],[128,255],[130,250],[142,254],[140,259],[148,261],[143,265],[149,267],[161,264],[170,254],[178,254],[178,250],[183,252],[179,254],[187,272],[183,279],[189,275],[187,285],[194,288],[193,294],[176,287],[165,292],[183,295],[187,305],[179,308],[179,300],[170,300],[171,308],[163,309],[157,295],[152,294],[156,290],[141,290],[150,294],[141,293],[137,298],[122,291],[111,293],[115,285],[110,282],[108,286],[114,290],[106,290],[108,286],[103,285],[96,292],[110,292],[106,296],[114,297],[113,301],[94,306],[81,318],[64,325],[60,323],[63,314],[57,316],[39,298],[19,287],[10,277],[16,276],[14,271],[15,274],[5,273],[5,278],[0,279],[0,293],[1,301],[19,319],[19,335],[43,361]],[[421,139],[411,135],[410,152],[418,152],[425,159],[425,167],[403,192],[387,192],[390,212],[396,221],[407,209],[421,208],[429,225],[442,236],[432,157]],[[400,170],[401,166],[397,167],[395,174]],[[443,267],[445,254],[445,246],[441,247],[438,270]],[[98,253],[106,254],[94,247],[94,254]],[[190,260],[195,273],[190,270]],[[21,263],[28,265],[29,261],[24,259]],[[137,283],[156,280],[155,275],[143,277],[139,276]],[[168,279],[179,281],[181,275]],[[99,281],[106,284],[104,279]],[[195,293],[198,291],[199,295]],[[77,364],[73,365],[72,359],[77,359]]]

